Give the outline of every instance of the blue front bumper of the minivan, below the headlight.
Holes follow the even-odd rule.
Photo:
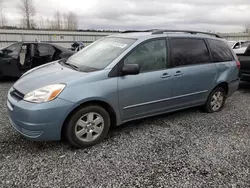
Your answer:
[[[18,100],[8,93],[10,123],[20,134],[31,140],[60,140],[63,122],[72,107],[73,103],[60,98],[34,104]]]

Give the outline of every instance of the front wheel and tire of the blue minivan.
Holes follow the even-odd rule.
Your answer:
[[[64,136],[71,145],[86,148],[101,142],[109,128],[108,112],[100,106],[90,105],[78,109],[70,116],[64,127]]]

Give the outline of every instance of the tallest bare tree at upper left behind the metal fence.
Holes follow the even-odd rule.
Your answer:
[[[24,26],[30,29],[33,23],[33,17],[35,16],[35,7],[33,0],[19,0],[20,11],[23,16]]]

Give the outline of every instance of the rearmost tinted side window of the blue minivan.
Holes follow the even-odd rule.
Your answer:
[[[208,39],[214,62],[232,61],[233,55],[229,46],[224,41]]]

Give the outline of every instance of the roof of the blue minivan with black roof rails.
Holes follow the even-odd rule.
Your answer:
[[[212,34],[212,33],[211,33]],[[154,34],[152,32],[129,32],[129,33],[120,33],[120,34],[114,34],[110,35],[108,37],[117,37],[117,38],[131,38],[131,39],[152,39],[152,38],[160,38],[160,37],[187,37],[187,38],[210,38],[210,39],[218,39],[218,40],[225,40],[224,38],[218,38],[215,36],[211,36],[208,34],[191,34],[191,33],[185,33],[185,32],[166,32],[161,34]]]

